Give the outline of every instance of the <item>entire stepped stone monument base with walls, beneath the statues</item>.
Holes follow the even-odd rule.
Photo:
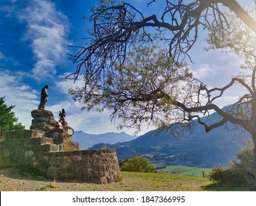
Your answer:
[[[0,160],[30,165],[65,181],[117,182],[120,168],[115,149],[80,150],[71,127],[55,127],[50,111],[32,111],[30,130],[0,132]],[[1,163],[0,161],[0,163]]]

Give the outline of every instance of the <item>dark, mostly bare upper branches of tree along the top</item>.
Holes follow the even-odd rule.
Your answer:
[[[152,10],[153,2],[159,4],[151,1],[148,4],[150,12],[155,11]],[[224,7],[219,7],[219,4]],[[256,32],[255,19],[234,0],[167,0],[162,15],[158,13],[160,18],[154,13],[144,15],[139,8],[125,1],[100,1],[91,8],[89,21],[93,26],[88,32],[90,38],[87,38],[86,46],[77,46],[79,51],[72,56],[72,60],[78,63],[77,71],[69,77],[74,75],[77,79],[83,72],[83,65],[86,78],[91,78],[91,75],[94,79],[100,77],[115,63],[122,65],[134,44],[139,48],[153,40],[162,40],[162,44],[169,48],[169,57],[180,62],[189,55],[188,51],[198,40],[200,27],[211,27],[212,32],[215,32],[217,24],[221,24],[223,31],[229,27],[232,21],[224,14],[226,8]],[[156,35],[151,35],[152,29],[155,29]]]

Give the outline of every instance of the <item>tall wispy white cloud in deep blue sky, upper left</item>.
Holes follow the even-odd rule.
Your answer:
[[[30,40],[35,56],[32,77],[38,80],[53,77],[57,72],[56,65],[63,63],[66,56],[68,18],[55,10],[55,4],[47,0],[30,1],[18,18],[27,23],[24,40]]]

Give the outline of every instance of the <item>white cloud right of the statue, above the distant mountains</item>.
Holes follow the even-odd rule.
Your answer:
[[[63,74],[60,78],[66,77],[68,74]],[[73,127],[76,131],[82,130],[83,132],[91,134],[100,134],[105,132],[120,132],[117,129],[117,122],[111,122],[111,113],[108,110],[104,110],[102,113],[98,113],[95,110],[86,112],[81,110],[81,104],[75,102],[71,96],[68,95],[67,90],[69,88],[82,87],[84,85],[83,78],[77,79],[74,84],[73,80],[63,79],[62,81],[56,82],[55,87],[58,88],[59,93],[66,94],[66,99],[59,102],[58,104],[47,107],[47,110],[51,110],[54,113],[55,118],[58,118],[59,111],[64,108],[66,110],[66,121],[70,127]],[[151,127],[150,129],[155,129]],[[124,128],[123,132],[127,132],[130,135],[134,134],[134,129]],[[140,135],[148,132],[148,126],[142,126]]]

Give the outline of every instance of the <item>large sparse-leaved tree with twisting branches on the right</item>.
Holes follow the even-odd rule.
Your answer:
[[[159,2],[150,1],[148,7],[151,4]],[[77,46],[79,51],[72,57],[77,71],[67,77],[83,74],[85,85],[70,93],[84,109],[108,108],[112,118],[122,118],[121,127],[137,129],[143,121],[162,128],[174,122],[193,126],[196,121],[210,132],[230,122],[246,129],[256,145],[256,20],[238,1],[167,0],[159,17],[112,0],[100,1],[91,11],[88,44]],[[207,88],[192,78],[184,60],[191,61],[190,49],[205,28],[208,49],[227,49],[243,57],[249,76],[234,77],[220,88]],[[156,42],[166,48],[152,46]],[[221,110],[216,100],[235,84],[247,92]],[[220,121],[203,122],[201,116],[212,111],[221,116]],[[254,152],[255,161],[246,168],[252,190],[256,190]]]

